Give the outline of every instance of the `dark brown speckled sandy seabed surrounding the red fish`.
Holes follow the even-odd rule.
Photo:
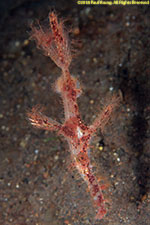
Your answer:
[[[91,143],[94,173],[107,186],[107,215],[96,214],[87,186],[71,167],[63,137],[34,129],[36,104],[63,121],[53,83],[60,70],[29,40],[30,24],[50,10],[67,18],[81,82],[81,117],[91,124],[114,93],[121,103]],[[0,225],[150,224],[150,8],[78,6],[75,1],[0,2]]]

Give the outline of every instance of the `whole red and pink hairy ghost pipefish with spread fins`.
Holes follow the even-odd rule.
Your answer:
[[[68,34],[62,22],[58,22],[54,12],[50,13],[50,31],[43,31],[32,27],[32,38],[37,41],[45,53],[59,66],[62,75],[55,83],[55,89],[60,94],[63,105],[65,120],[63,124],[43,115],[39,107],[34,107],[28,113],[31,124],[37,128],[57,131],[63,135],[68,144],[72,160],[78,172],[87,183],[94,205],[97,207],[96,219],[102,219],[106,214],[105,200],[101,187],[92,172],[92,165],[88,156],[90,141],[98,128],[104,129],[108,123],[111,113],[118,105],[119,98],[113,97],[111,103],[95,119],[92,125],[86,126],[80,118],[77,98],[82,93],[79,82],[70,75],[69,65],[71,63],[71,51],[69,48]]]

